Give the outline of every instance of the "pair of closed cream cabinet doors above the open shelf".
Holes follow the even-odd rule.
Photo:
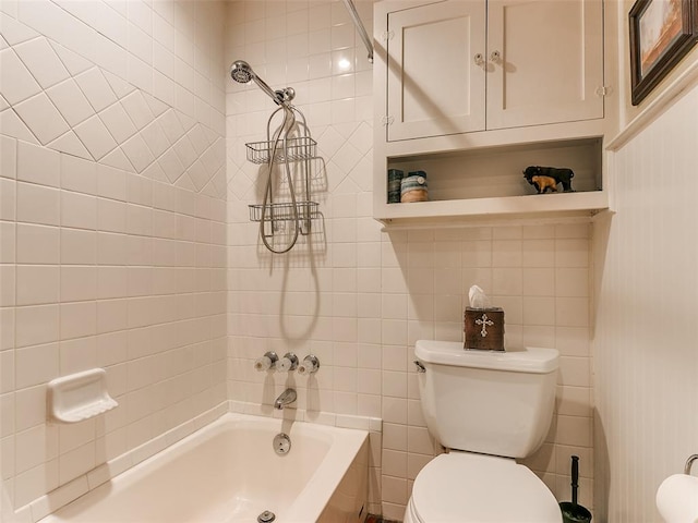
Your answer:
[[[603,118],[600,1],[404,5],[382,33],[389,142]]]

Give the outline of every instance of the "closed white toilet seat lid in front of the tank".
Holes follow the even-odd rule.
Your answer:
[[[468,452],[434,458],[414,479],[406,522],[562,523],[557,500],[528,467]]]

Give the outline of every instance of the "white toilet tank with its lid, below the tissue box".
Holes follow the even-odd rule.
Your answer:
[[[555,406],[554,349],[466,351],[420,340],[414,355],[426,426],[449,449],[525,458],[543,442]]]

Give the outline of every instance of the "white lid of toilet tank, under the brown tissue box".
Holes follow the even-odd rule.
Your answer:
[[[559,360],[555,349],[527,346],[505,352],[472,351],[465,350],[460,342],[434,340],[419,340],[414,355],[423,363],[530,374],[552,373]]]

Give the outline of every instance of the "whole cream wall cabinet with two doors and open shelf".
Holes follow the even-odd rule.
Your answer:
[[[606,208],[606,11],[603,0],[377,2],[374,217]],[[579,193],[531,194],[521,171],[546,159],[579,166]],[[431,202],[387,204],[387,169],[425,166]]]

